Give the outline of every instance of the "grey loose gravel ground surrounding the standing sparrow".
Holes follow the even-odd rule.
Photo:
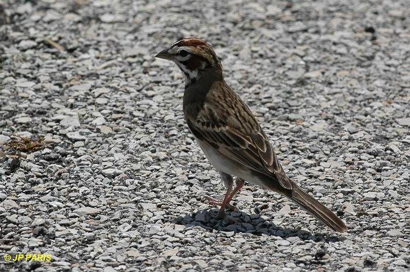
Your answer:
[[[409,15],[408,0],[0,0],[0,271],[410,270]],[[203,196],[224,186],[181,73],[153,57],[192,35],[348,233],[251,184],[213,218]]]

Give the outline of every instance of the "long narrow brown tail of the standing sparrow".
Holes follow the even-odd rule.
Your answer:
[[[291,195],[288,195],[288,197],[295,201],[301,208],[303,208],[303,210],[334,229],[334,231],[339,233],[347,231],[347,226],[339,217],[337,217],[337,215],[308,193],[300,189],[299,186],[294,187],[291,191]]]

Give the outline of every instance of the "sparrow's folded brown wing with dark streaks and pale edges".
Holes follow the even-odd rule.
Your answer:
[[[229,103],[233,109],[224,109],[226,103],[221,102],[221,97],[204,102],[196,118],[187,118],[191,132],[222,155],[249,169],[274,176],[282,187],[293,189],[294,183],[284,173],[252,112],[236,94],[229,97],[236,100]]]

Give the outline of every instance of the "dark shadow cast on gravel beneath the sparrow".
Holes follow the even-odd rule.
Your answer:
[[[253,235],[278,236],[283,239],[289,237],[299,237],[301,240],[313,240],[316,242],[337,242],[343,241],[343,236],[332,234],[312,234],[302,229],[283,228],[276,226],[258,214],[249,215],[243,212],[227,212],[227,217],[223,220],[216,218],[219,209],[205,209],[198,213],[179,216],[173,220],[178,225],[200,226],[208,231],[223,231],[234,233],[250,233]]]

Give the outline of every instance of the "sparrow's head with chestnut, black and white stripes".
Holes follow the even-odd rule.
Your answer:
[[[155,57],[172,60],[185,75],[186,85],[195,83],[203,75],[222,77],[222,66],[212,47],[200,38],[178,40]]]

